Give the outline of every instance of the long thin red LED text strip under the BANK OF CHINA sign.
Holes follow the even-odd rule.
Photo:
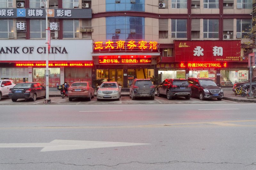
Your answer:
[[[15,66],[17,67],[44,67],[46,66],[46,63],[16,63]],[[91,67],[93,66],[93,63],[49,63],[49,67]]]

